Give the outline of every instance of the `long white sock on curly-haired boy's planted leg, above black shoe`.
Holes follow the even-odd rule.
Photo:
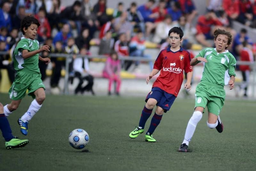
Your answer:
[[[183,140],[183,143],[186,143],[188,145],[189,141],[191,140],[195,130],[197,123],[202,119],[203,113],[200,111],[195,111],[188,121],[188,126],[185,132],[185,137]],[[182,143],[182,144],[183,144]]]

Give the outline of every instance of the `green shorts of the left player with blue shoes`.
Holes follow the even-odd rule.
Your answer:
[[[9,95],[12,100],[20,100],[25,97],[28,89],[28,95],[35,98],[34,91],[41,87],[45,89],[44,83],[41,80],[41,74],[19,71],[9,89]]]

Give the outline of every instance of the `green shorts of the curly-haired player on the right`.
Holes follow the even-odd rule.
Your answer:
[[[196,87],[196,107],[207,106],[208,112],[219,115],[224,105],[226,92],[222,86],[200,82]]]

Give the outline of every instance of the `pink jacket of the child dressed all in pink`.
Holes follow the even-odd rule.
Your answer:
[[[110,75],[117,74],[119,75],[121,71],[121,62],[120,60],[113,60],[111,57],[107,58],[106,65],[103,69],[103,73]]]

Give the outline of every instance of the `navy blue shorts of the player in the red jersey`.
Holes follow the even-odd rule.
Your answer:
[[[145,102],[148,102],[149,98],[154,98],[157,101],[157,106],[162,107],[164,109],[164,113],[170,110],[175,96],[173,94],[167,93],[166,91],[158,88],[152,87],[151,91],[148,93]]]

